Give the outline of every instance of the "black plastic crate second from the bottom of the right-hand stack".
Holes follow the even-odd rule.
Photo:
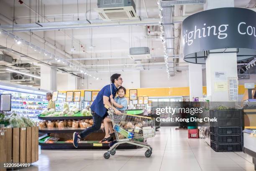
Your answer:
[[[242,136],[241,135],[216,135],[210,134],[211,141],[216,143],[241,143]]]

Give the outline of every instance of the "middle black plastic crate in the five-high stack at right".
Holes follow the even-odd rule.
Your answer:
[[[243,129],[241,126],[238,127],[210,127],[210,133],[218,135],[241,135]]]

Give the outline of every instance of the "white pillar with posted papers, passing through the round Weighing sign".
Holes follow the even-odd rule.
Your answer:
[[[234,0],[207,0],[204,10],[221,7],[234,7]],[[206,59],[207,97],[210,101],[230,101],[228,78],[231,77],[238,77],[236,53],[210,53]]]

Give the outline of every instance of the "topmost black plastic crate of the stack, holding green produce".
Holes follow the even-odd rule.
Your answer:
[[[216,117],[218,119],[241,119],[242,116],[242,109],[210,110],[210,118]]]

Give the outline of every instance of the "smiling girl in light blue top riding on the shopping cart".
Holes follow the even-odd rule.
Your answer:
[[[125,87],[118,87],[118,96],[113,99],[113,95],[110,96],[110,101],[113,103],[113,106],[118,109],[121,113],[123,113],[127,109],[127,100],[125,99],[126,89]],[[106,116],[103,120],[104,129],[105,129],[105,137],[101,140],[101,142],[105,141],[113,141],[113,136],[115,132],[113,130],[110,116]]]

